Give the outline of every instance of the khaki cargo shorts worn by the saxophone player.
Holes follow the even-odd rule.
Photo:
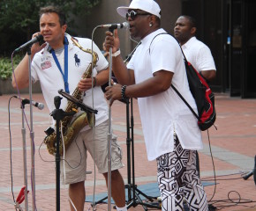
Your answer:
[[[64,161],[61,162],[61,178],[63,184],[78,183],[87,178],[87,150],[94,159],[100,173],[108,172],[108,134],[109,120],[102,124],[80,132],[66,151]],[[124,167],[122,164],[122,150],[117,143],[117,135],[112,134],[111,142],[111,171]],[[92,167],[93,168],[93,167]],[[65,169],[65,178],[64,178]],[[88,170],[88,171],[93,171]]]

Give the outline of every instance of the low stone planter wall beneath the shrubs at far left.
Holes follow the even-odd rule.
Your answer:
[[[3,80],[0,78],[0,95],[3,94],[17,94],[17,90],[12,88],[11,85],[11,78]],[[29,89],[25,88],[22,90],[19,90],[20,93],[28,93]],[[41,86],[40,83],[37,82],[35,84],[32,85],[32,92],[33,93],[41,93]]]

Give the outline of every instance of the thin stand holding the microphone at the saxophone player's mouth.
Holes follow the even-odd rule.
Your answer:
[[[32,105],[32,79],[31,79],[31,46],[27,47],[28,70],[29,70],[29,100],[30,100],[30,140],[31,140],[31,189],[33,195],[33,211],[35,207],[35,178],[34,178],[34,128],[33,128],[33,105]]]

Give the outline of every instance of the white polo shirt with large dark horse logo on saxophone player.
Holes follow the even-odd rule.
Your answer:
[[[92,61],[92,55],[86,53],[76,47],[69,34],[65,34],[69,41],[68,45],[68,83],[70,94],[72,95],[73,91],[77,88],[79,80],[86,72],[89,63]],[[75,38],[79,41],[79,45],[85,49],[92,48],[92,40],[84,39],[84,38]],[[60,72],[60,70],[56,66],[56,62],[53,56],[49,53],[49,45],[44,47],[41,52],[34,55],[34,59],[32,61],[32,78],[34,82],[40,81],[41,91],[43,97],[46,101],[46,104],[49,108],[49,112],[52,112],[56,109],[54,105],[54,98],[58,96],[58,90],[64,90],[64,78]],[[93,69],[92,76],[96,76],[96,74],[102,69],[107,69],[109,66],[109,62],[102,55],[101,50],[94,44],[93,47],[94,52],[99,56],[99,60],[96,63],[96,66]],[[76,56],[76,58],[75,58]],[[58,55],[56,54],[58,62],[60,63],[61,69],[64,72],[64,50]],[[92,90],[94,98],[92,98]],[[63,98],[63,97],[62,97]],[[93,107],[98,110],[98,113],[95,114],[95,125],[99,125],[105,120],[109,119],[109,107],[104,98],[104,93],[100,86],[94,87],[94,89],[90,89],[85,92],[85,97],[83,98],[83,103],[87,106]],[[61,100],[61,106],[65,111],[67,106],[67,99],[63,98]],[[53,122],[54,124],[54,122]],[[83,130],[89,128],[85,127]]]

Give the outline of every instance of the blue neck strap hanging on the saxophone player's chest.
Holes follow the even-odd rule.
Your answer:
[[[69,78],[69,71],[68,71],[68,40],[66,37],[64,37],[64,72],[61,69],[61,66],[56,58],[56,54],[54,49],[51,50],[51,54],[54,58],[54,61],[56,62],[56,66],[59,69],[59,71],[61,72],[63,78],[64,78],[64,88],[65,88],[65,92],[70,93],[69,90],[69,83],[68,83],[68,78]]]

